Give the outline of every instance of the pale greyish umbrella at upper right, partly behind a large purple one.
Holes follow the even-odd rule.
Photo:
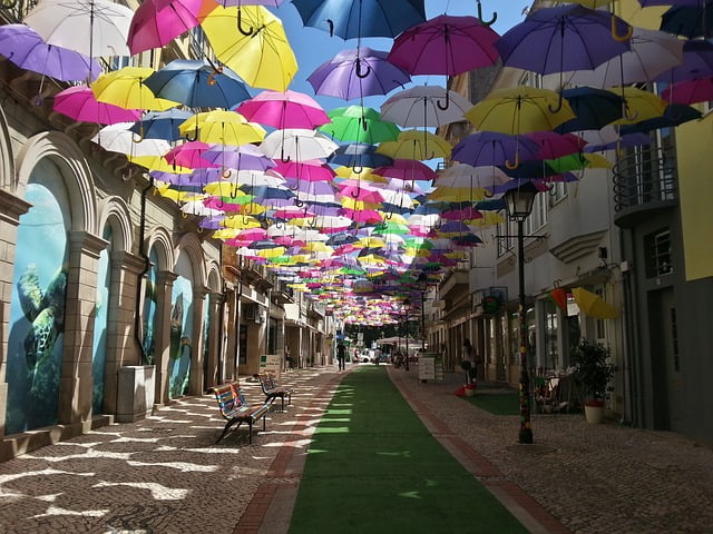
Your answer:
[[[596,69],[573,72],[568,83],[602,89],[643,83],[683,62],[685,41],[665,31],[634,28],[631,42],[629,51],[605,61]]]

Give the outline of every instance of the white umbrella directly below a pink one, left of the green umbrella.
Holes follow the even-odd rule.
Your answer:
[[[339,145],[319,131],[302,128],[275,130],[260,145],[263,154],[283,161],[309,161],[329,157]]]

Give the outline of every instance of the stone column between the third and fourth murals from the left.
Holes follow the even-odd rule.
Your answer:
[[[168,404],[168,354],[170,350],[170,291],[178,275],[158,273],[156,279],[156,328],[154,329],[157,404]]]

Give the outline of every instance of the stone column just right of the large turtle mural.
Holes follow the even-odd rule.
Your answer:
[[[58,419],[60,424],[75,425],[91,419],[97,274],[99,253],[108,243],[86,231],[70,231],[67,237],[69,274]]]

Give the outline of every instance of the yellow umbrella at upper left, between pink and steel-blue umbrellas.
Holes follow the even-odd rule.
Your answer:
[[[91,83],[91,92],[99,102],[113,103],[124,109],[150,109],[165,111],[178,102],[156,98],[144,80],[154,73],[145,67],[124,67],[101,75]]]

